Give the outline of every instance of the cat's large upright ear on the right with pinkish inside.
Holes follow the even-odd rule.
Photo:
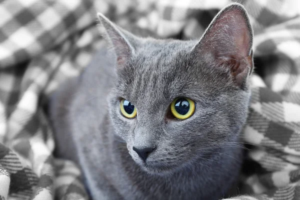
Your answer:
[[[210,63],[228,67],[241,86],[253,70],[252,37],[246,10],[239,3],[231,3],[213,18],[192,51]]]

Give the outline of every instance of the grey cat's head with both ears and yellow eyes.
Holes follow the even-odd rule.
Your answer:
[[[109,114],[141,168],[175,171],[238,140],[253,68],[240,4],[222,9],[198,41],[139,38],[98,18],[116,55]]]

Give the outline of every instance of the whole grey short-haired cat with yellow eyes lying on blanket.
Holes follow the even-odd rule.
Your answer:
[[[219,199],[243,159],[252,28],[238,3],[200,40],[140,38],[98,14],[109,45],[53,95],[56,155],[92,199]]]

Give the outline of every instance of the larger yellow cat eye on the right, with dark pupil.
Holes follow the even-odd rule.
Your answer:
[[[171,103],[171,112],[177,119],[187,119],[195,111],[195,102],[189,98],[175,98]]]

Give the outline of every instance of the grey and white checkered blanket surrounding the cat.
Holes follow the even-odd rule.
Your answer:
[[[102,45],[95,12],[140,35],[199,38],[229,0],[0,0],[0,199],[88,199],[80,171],[54,158],[49,94]],[[239,0],[255,73],[232,199],[300,199],[300,5]]]

